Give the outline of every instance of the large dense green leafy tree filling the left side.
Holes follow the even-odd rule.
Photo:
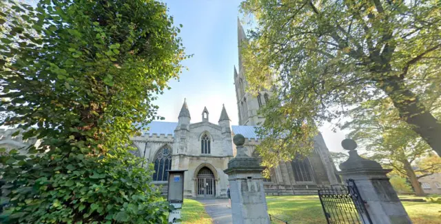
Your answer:
[[[0,125],[42,140],[27,156],[0,157],[2,223],[166,222],[152,167],[126,146],[140,134],[134,123],[158,118],[152,101],[187,57],[165,4],[0,1],[0,9],[0,108],[14,113]]]

